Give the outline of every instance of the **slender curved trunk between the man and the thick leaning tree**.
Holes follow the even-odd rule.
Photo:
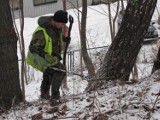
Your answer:
[[[87,1],[82,0],[82,18],[81,18],[81,51],[84,63],[87,67],[89,77],[95,75],[94,66],[91,59],[89,58],[87,47],[86,47],[86,17],[87,17]]]

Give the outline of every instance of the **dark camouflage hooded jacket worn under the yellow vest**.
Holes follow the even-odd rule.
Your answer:
[[[57,28],[51,26],[51,17],[40,17],[38,19],[38,25],[45,28],[47,34],[52,38],[52,55],[57,56],[59,60],[61,60],[61,50],[62,50],[62,40],[60,35],[62,34],[62,30],[58,30]],[[64,36],[62,35],[62,39]],[[44,46],[45,46],[45,37],[43,34],[43,31],[38,31],[34,37],[32,38],[32,41],[29,46],[29,50],[32,53],[37,53],[41,57],[45,57],[44,52]]]

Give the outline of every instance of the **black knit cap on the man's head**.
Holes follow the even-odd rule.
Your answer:
[[[53,15],[52,18],[56,22],[67,23],[68,22],[68,13],[63,10],[59,10],[59,11],[55,12],[55,14]]]

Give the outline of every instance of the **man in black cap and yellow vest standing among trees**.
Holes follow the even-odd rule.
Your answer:
[[[53,106],[59,102],[59,88],[66,76],[65,72],[54,68],[65,70],[65,66],[60,61],[62,43],[70,42],[70,37],[67,37],[67,22],[68,13],[63,10],[57,11],[54,16],[40,17],[27,56],[27,63],[43,72],[41,98],[50,98]]]

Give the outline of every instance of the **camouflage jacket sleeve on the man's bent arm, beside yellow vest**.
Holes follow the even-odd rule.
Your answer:
[[[45,47],[45,37],[43,31],[38,31],[35,33],[34,37],[31,40],[29,45],[29,50],[31,53],[36,53],[39,56],[45,58],[46,52],[44,51]]]

